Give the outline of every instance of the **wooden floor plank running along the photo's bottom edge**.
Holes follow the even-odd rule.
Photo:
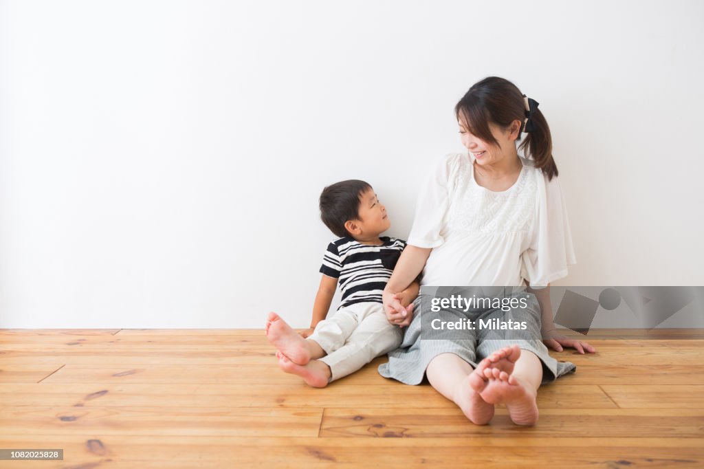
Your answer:
[[[522,429],[529,434],[534,429]],[[4,446],[37,447],[24,436],[1,437]],[[17,461],[4,467],[263,467],[384,468],[415,466],[468,468],[555,467],[617,468],[701,467],[701,441],[693,438],[545,438],[524,436],[523,446],[511,439],[474,438],[270,438],[46,435],[44,443],[64,449],[65,461]],[[12,464],[12,465],[9,465]],[[50,465],[54,464],[54,465]],[[85,466],[83,466],[85,465]]]

